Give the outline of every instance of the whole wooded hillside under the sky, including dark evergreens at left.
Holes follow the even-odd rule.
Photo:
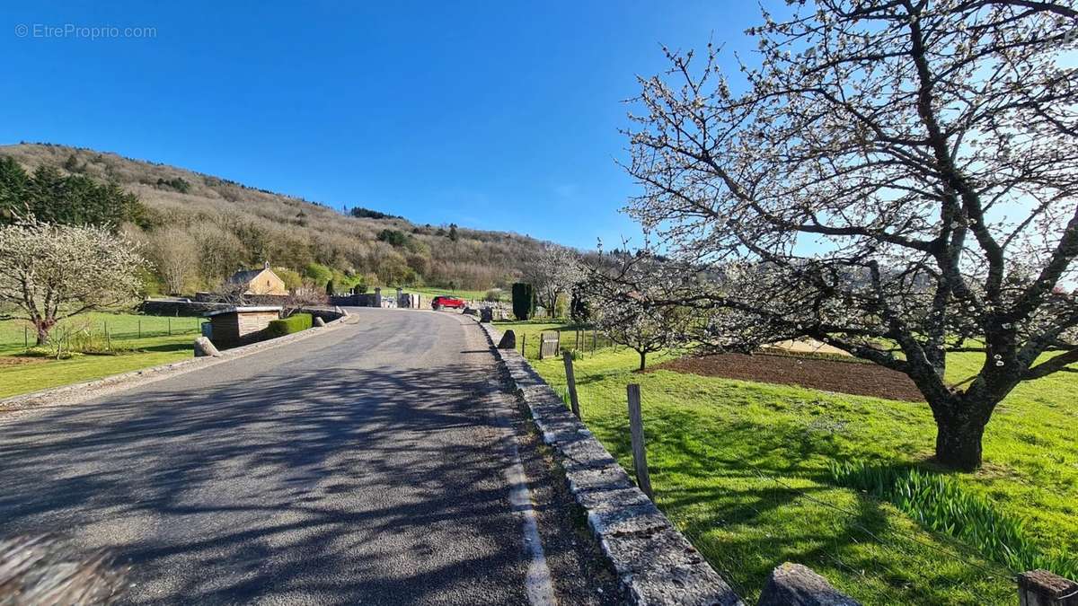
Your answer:
[[[182,168],[57,144],[0,147],[0,211],[57,222],[107,220],[146,246],[151,290],[216,288],[268,261],[286,281],[485,289],[517,277],[542,243],[505,232],[416,225],[333,208]],[[86,210],[86,209],[91,210]],[[383,209],[386,210],[386,209]],[[294,272],[294,273],[293,273]],[[317,280],[316,280],[317,281]],[[322,283],[324,284],[324,283]]]

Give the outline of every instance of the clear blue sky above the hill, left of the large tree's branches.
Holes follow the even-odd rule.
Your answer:
[[[757,20],[714,1],[45,4],[0,9],[0,142],[582,248],[637,233],[618,128],[659,43],[744,52]],[[155,35],[46,37],[68,25]]]

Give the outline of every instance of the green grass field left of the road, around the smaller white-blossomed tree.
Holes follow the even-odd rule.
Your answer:
[[[201,318],[168,318],[134,314],[85,314],[66,322],[111,344],[113,355],[83,355],[66,360],[22,356],[33,346],[27,322],[0,321],[0,398],[17,396],[133,370],[175,362],[193,355]],[[63,333],[63,328],[57,331]],[[108,329],[109,340],[103,339]],[[171,334],[169,334],[171,332]]]

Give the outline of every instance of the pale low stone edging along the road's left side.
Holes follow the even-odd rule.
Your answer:
[[[30,409],[47,403],[47,400],[55,398],[69,397],[74,401],[83,401],[99,396],[100,394],[97,394],[96,391],[106,388],[124,389],[127,387],[134,387],[135,385],[152,383],[154,381],[183,374],[201,368],[219,364],[227,360],[250,356],[251,354],[255,354],[263,349],[272,349],[280,345],[287,345],[294,341],[309,339],[316,334],[321,334],[327,330],[344,326],[344,320],[347,318],[348,316],[344,316],[333,321],[326,322],[324,327],[312,328],[302,332],[278,336],[277,339],[260,341],[258,343],[251,343],[250,345],[225,349],[224,352],[221,352],[220,356],[191,358],[188,360],[180,360],[178,362],[169,362],[167,364],[133,370],[122,374],[113,374],[111,376],[85,381],[83,383],[73,383],[71,385],[61,385],[59,387],[52,387],[40,391],[12,396],[11,398],[0,400],[0,412],[14,412]],[[197,335],[192,335],[192,339],[196,336]]]

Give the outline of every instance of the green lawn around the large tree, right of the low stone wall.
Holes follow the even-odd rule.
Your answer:
[[[523,330],[531,341],[553,327],[499,328]],[[662,359],[654,356],[649,366]],[[564,389],[559,359],[533,363]],[[890,504],[831,481],[834,460],[927,465],[935,425],[926,404],[636,373],[636,363],[634,352],[612,348],[577,360],[584,422],[631,469],[625,385],[640,384],[655,500],[749,602],[784,561],[813,567],[865,604],[1015,602],[1012,571]],[[965,378],[977,364],[976,354],[956,355],[949,374]],[[1025,519],[1025,532],[1049,553],[1078,552],[1076,387],[1073,374],[1021,386],[989,425],[984,469],[953,476],[964,490]]]

